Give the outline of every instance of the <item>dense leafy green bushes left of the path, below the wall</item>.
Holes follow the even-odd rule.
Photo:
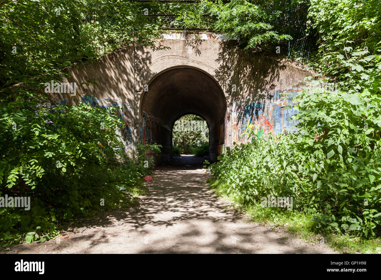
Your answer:
[[[58,223],[112,208],[123,199],[117,188],[136,186],[153,166],[146,150],[160,151],[138,145],[137,157],[126,157],[115,133],[123,123],[112,110],[18,100],[0,109],[0,196],[31,202],[30,210],[1,209],[1,246],[57,234]]]

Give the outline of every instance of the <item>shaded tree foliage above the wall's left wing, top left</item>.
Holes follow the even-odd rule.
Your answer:
[[[0,6],[0,19],[2,87],[122,46],[153,47],[158,34],[141,4],[124,0],[10,1]]]

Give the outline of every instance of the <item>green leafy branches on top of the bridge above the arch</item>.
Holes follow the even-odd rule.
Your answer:
[[[315,50],[315,38],[304,32],[308,0],[291,0],[287,5],[280,0],[159,2],[150,4],[160,6],[159,10],[144,8],[150,22],[161,22],[161,29],[226,33],[238,37],[245,49],[273,51],[274,46],[282,45],[294,56]]]

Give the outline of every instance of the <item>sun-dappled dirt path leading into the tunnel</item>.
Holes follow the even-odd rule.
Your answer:
[[[182,156],[160,166],[136,207],[70,229],[61,244],[20,244],[2,253],[333,253],[226,210],[206,188],[210,175],[197,171],[200,160]]]

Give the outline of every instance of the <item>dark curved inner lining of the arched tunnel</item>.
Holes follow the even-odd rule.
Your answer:
[[[187,66],[168,69],[143,92],[139,137],[144,144],[162,145],[158,162],[168,160],[174,122],[182,115],[199,115],[209,126],[209,156],[215,161],[224,145],[226,108],[223,90],[210,75]]]

